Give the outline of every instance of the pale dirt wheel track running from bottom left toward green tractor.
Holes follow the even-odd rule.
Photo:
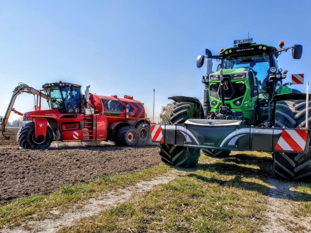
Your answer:
[[[158,184],[167,184],[169,181],[176,179],[179,176],[185,176],[188,174],[186,171],[172,170],[162,176],[156,177],[154,180],[141,181],[136,185],[128,186],[124,189],[118,189],[111,191],[107,194],[99,196],[97,199],[88,199],[88,203],[80,208],[78,211],[71,211],[62,214],[57,219],[44,219],[41,221],[29,221],[24,222],[20,227],[7,229],[0,229],[1,233],[53,233],[65,226],[71,226],[75,220],[83,217],[90,217],[96,215],[101,211],[108,208],[114,208],[119,203],[127,201],[129,199],[135,199],[136,194],[140,194],[151,190],[153,186]],[[72,210],[75,209],[74,207]],[[57,210],[52,210],[52,213],[58,214]],[[31,230],[27,230],[26,227]]]

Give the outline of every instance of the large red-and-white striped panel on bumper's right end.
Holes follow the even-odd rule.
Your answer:
[[[304,151],[308,137],[307,130],[283,130],[276,150]]]

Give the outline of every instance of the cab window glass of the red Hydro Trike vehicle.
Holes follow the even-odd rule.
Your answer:
[[[60,112],[78,112],[81,105],[81,89],[74,86],[54,86],[49,88],[49,102],[52,109]]]

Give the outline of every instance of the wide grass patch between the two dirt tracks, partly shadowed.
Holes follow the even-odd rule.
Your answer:
[[[188,175],[59,232],[261,231],[272,159],[255,153],[223,160],[202,156]]]

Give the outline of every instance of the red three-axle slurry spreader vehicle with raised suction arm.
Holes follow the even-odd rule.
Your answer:
[[[82,94],[81,85],[55,82],[36,90],[20,83],[13,91],[5,116],[0,119],[0,131],[11,111],[22,115],[26,123],[17,133],[18,144],[25,149],[44,149],[53,140],[87,142],[113,140],[122,146],[150,143],[150,120],[146,118],[143,103],[132,96],[102,96],[91,94],[90,86]],[[35,111],[21,112],[13,108],[21,93],[35,96]],[[47,100],[49,110],[41,110],[41,98]]]

